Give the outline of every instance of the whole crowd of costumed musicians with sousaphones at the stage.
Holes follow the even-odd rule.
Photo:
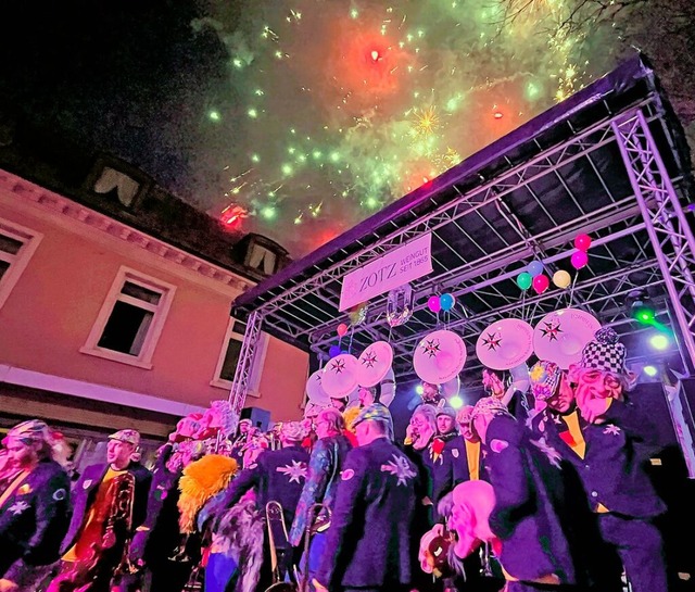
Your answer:
[[[463,339],[430,332],[402,438],[387,341],[313,373],[302,420],[261,429],[215,401],[147,467],[134,429],[77,473],[23,421],[0,452],[0,592],[667,592],[653,418],[590,317],[493,323],[471,404]]]

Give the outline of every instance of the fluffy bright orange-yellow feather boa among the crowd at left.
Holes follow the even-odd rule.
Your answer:
[[[216,493],[225,489],[238,470],[237,461],[222,454],[206,454],[188,465],[179,479],[179,527],[181,532],[195,530],[195,516]]]

